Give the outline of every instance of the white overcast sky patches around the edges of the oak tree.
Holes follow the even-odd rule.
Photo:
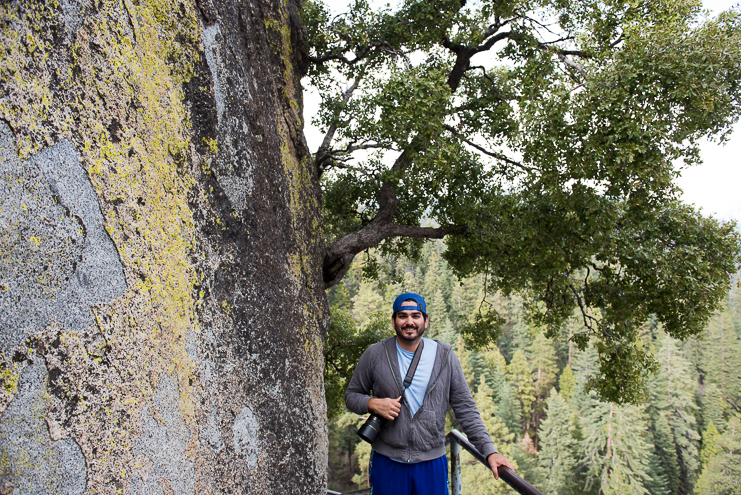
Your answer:
[[[341,10],[348,2],[330,0],[333,10]],[[714,13],[737,5],[738,0],[704,0]],[[319,109],[319,98],[311,91],[304,94],[306,139],[311,151],[316,151],[322,136],[311,125],[311,117]],[[704,142],[701,145],[703,164],[682,171],[677,184],[684,191],[684,200],[719,219],[735,219],[741,223],[741,124],[736,124],[730,141],[721,146]]]

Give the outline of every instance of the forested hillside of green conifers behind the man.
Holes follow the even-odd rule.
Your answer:
[[[460,330],[471,324],[485,281],[458,281],[428,242],[418,263],[363,255],[330,291],[333,325],[325,371],[330,412],[329,486],[366,486],[369,447],[355,435],[364,418],[347,412],[342,394],[348,366],[371,342],[391,335],[393,298],[404,291],[427,299],[426,336],[452,343],[497,448],[546,494],[738,493],[741,478],[741,288],[735,277],[723,309],[701,338],[678,341],[655,321],[640,329],[656,357],[645,400],[601,402],[585,384],[598,370],[592,348],[569,343],[574,319],[551,340],[529,324],[518,297],[488,294],[506,319],[496,345],[475,349]],[[368,263],[368,261],[371,263]],[[373,265],[380,282],[363,277]],[[486,303],[485,303],[486,304]],[[351,370],[350,370],[351,372]],[[452,413],[448,429],[456,427]],[[514,493],[464,454],[464,493]]]

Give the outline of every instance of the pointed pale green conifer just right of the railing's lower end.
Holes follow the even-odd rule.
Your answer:
[[[546,495],[566,495],[573,491],[578,444],[575,438],[576,410],[556,389],[546,402],[547,417],[541,423],[540,467]]]

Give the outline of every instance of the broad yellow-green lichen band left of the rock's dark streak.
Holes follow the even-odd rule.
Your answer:
[[[128,286],[112,304],[95,308],[90,335],[60,329],[51,353],[52,360],[61,356],[58,369],[79,373],[95,388],[84,400],[68,380],[69,390],[59,393],[74,406],[57,411],[88,459],[92,493],[113,493],[137,475],[131,452],[141,434],[138,416],[162,373],[177,379],[183,418],[192,423],[195,414],[195,365],[185,350],[198,331],[187,199],[194,180],[182,88],[198,62],[200,28],[190,3],[126,0],[123,6],[93,2],[95,14],[64,40],[69,50],[55,46],[68,21],[59,4],[0,6],[0,117],[21,159],[60,139],[81,152]],[[38,330],[39,342],[52,347],[44,341],[55,333]],[[86,348],[96,331],[104,356]]]

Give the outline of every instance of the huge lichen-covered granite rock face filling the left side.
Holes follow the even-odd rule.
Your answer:
[[[298,9],[0,5],[0,492],[326,493]]]

